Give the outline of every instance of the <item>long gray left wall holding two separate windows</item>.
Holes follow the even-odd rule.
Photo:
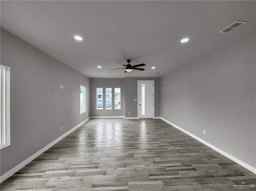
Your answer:
[[[90,116],[90,79],[2,29],[1,64],[10,67],[11,110],[3,175]],[[87,90],[83,114],[80,85]]]

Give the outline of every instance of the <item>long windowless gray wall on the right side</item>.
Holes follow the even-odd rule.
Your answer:
[[[162,118],[254,168],[255,41],[246,37],[161,78]]]

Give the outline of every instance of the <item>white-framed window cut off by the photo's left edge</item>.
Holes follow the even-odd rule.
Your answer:
[[[10,145],[10,67],[0,65],[0,149]]]

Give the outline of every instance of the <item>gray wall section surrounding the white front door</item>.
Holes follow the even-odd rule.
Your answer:
[[[155,117],[160,117],[160,78],[125,78],[125,117],[138,117],[138,80],[154,80]]]

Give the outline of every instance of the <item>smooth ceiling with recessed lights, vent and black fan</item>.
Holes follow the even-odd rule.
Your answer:
[[[88,77],[161,77],[256,33],[255,4],[1,0],[1,27]],[[229,34],[218,33],[235,21],[247,23]],[[83,41],[75,41],[76,34]],[[183,37],[190,41],[180,43]],[[110,70],[126,59],[132,65],[145,63],[146,70]]]

